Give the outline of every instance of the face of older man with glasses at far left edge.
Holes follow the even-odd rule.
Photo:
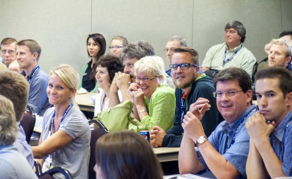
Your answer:
[[[3,63],[8,66],[11,62],[16,60],[16,43],[4,43],[1,45],[1,57]]]

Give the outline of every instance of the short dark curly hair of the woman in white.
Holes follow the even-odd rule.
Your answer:
[[[124,70],[123,62],[114,55],[105,55],[105,56],[100,57],[100,59],[98,59],[98,61],[94,65],[95,70],[98,65],[107,68],[107,71],[109,72],[110,84],[112,84],[112,80],[114,79],[114,74],[119,71],[123,72]]]

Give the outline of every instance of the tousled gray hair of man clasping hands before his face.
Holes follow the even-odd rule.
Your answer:
[[[150,43],[145,41],[137,41],[124,47],[123,51],[121,52],[121,59],[124,60],[126,58],[136,58],[139,60],[143,57],[154,55],[155,52]]]

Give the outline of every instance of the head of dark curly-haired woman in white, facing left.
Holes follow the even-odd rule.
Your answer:
[[[105,55],[100,57],[95,64],[96,74],[95,79],[99,88],[104,91],[109,91],[114,74],[123,71],[124,66],[122,61],[114,55]]]

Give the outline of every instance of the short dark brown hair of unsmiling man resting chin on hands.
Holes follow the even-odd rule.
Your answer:
[[[292,92],[292,74],[282,67],[267,67],[258,71],[255,75],[255,81],[264,78],[277,78],[279,80],[279,88],[283,92],[284,98],[286,94]]]

